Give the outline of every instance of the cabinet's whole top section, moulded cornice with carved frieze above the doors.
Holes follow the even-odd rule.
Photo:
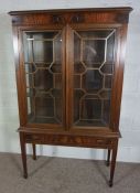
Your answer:
[[[130,7],[11,11],[13,26],[128,23]]]

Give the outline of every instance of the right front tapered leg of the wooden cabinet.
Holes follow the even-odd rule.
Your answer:
[[[115,174],[115,168],[116,168],[117,150],[118,150],[118,140],[116,141],[116,146],[114,147],[112,153],[111,153],[111,167],[110,167],[109,186],[112,186],[112,184],[114,184],[114,174]]]

